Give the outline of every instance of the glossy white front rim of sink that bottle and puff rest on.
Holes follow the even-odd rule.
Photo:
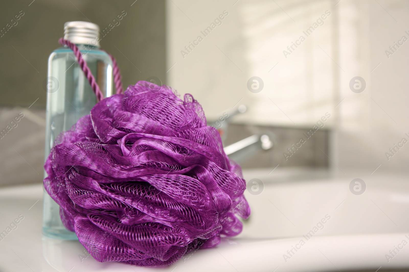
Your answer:
[[[325,183],[325,181],[320,182]],[[305,245],[302,246],[297,245],[301,239],[304,239],[301,235],[266,239],[249,238],[251,235],[248,234],[251,230],[250,232],[247,230],[244,236],[223,239],[217,247],[192,252],[169,267],[142,268],[117,262],[99,263],[78,241],[43,237],[41,234],[42,197],[43,188],[40,184],[0,189],[0,232],[3,230],[7,232],[0,241],[0,272],[280,272],[344,271],[350,270],[351,267],[357,270],[370,268],[375,271],[381,266],[382,269],[409,267],[409,245],[401,245],[402,249],[399,252],[396,251],[390,259],[386,258],[386,254],[389,254],[389,250],[393,250],[394,246],[398,246],[403,240],[409,241],[409,232],[402,232],[398,228],[396,232],[378,234],[332,235],[328,232],[328,235],[322,232],[323,235],[306,240]],[[347,205],[344,205],[346,208]],[[277,220],[286,221],[284,217],[279,218],[281,214],[278,211],[275,216]],[[380,212],[377,216],[388,221],[387,217]],[[392,218],[395,219],[394,215]],[[16,221],[18,223],[13,223]],[[406,221],[397,222],[400,224]],[[391,222],[388,224],[392,225]],[[329,226],[328,230],[330,230]],[[292,250],[294,246],[299,249]]]

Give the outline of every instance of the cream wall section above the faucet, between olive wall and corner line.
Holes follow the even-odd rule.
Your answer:
[[[236,1],[169,0],[167,57],[169,64],[176,63],[169,71],[169,83],[195,95],[210,119],[238,106],[240,100],[248,108],[238,119],[241,122],[310,126],[326,112],[332,113],[338,67],[326,53],[337,55],[333,2]],[[221,24],[216,22],[205,36],[204,30],[224,14],[228,15],[219,20]],[[326,19],[307,37],[303,31],[323,14]],[[306,40],[294,50],[287,49],[301,35]],[[203,41],[188,55],[181,53],[198,36]],[[258,93],[247,88],[253,76],[264,83]]]

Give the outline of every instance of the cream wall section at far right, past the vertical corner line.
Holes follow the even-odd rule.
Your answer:
[[[409,38],[409,2],[343,0],[337,7],[339,66],[345,70],[338,97],[345,100],[337,107],[335,159],[342,169],[407,171],[407,145],[389,159],[386,153],[403,137],[409,139],[409,44],[401,41],[393,55],[386,51],[392,53],[389,47],[402,36]],[[348,86],[355,76],[366,81],[362,93]]]

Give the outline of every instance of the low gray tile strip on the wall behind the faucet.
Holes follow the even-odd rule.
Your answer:
[[[310,138],[307,132],[311,128],[290,128],[275,126],[253,126],[245,124],[228,124],[224,135],[224,146],[237,142],[254,134],[267,134],[272,138],[274,146],[270,150],[262,150],[254,144],[243,151],[233,153],[229,157],[237,161],[242,168],[271,168],[278,164],[280,167],[313,167],[328,168],[329,130],[319,128]],[[293,154],[288,151],[292,144],[296,145],[300,139],[306,140]],[[299,145],[298,145],[299,146]],[[291,155],[285,157],[283,153]],[[327,157],[328,155],[328,157]]]

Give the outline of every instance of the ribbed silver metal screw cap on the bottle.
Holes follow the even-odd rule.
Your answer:
[[[64,39],[74,44],[90,44],[99,47],[99,27],[97,24],[82,21],[64,24]]]

